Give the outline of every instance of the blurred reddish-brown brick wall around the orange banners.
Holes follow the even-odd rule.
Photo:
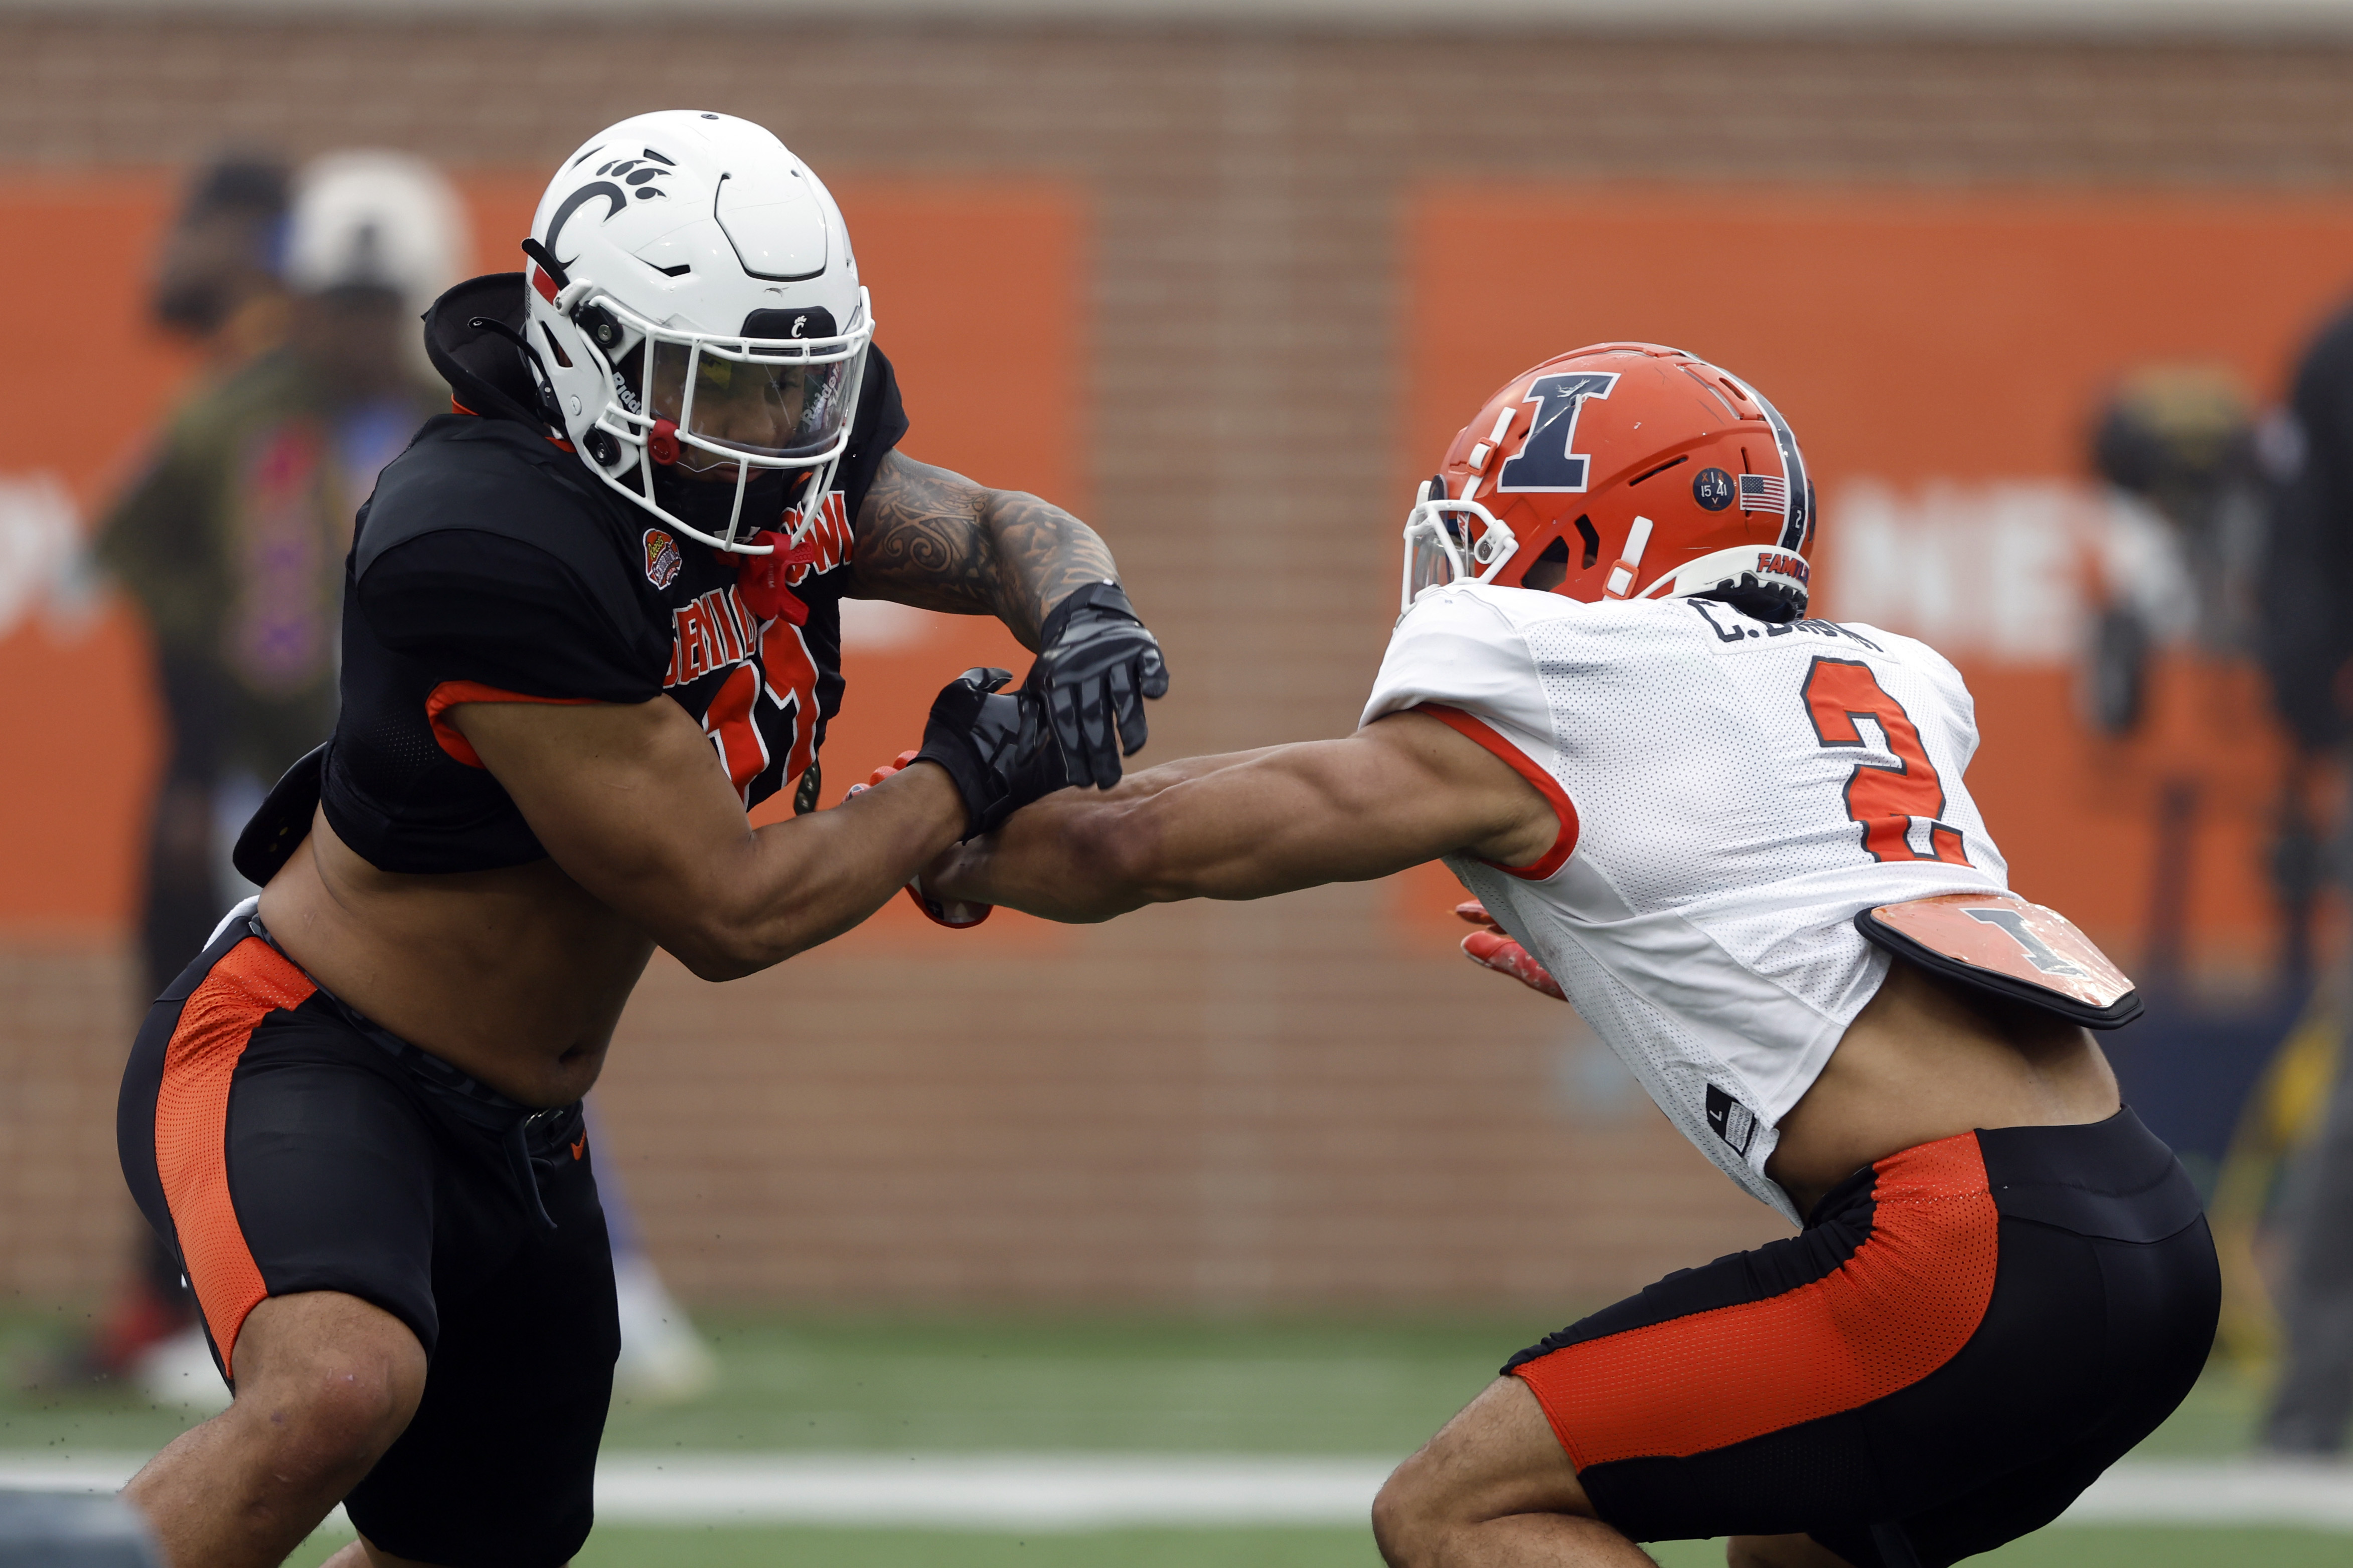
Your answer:
[[[824,172],[1082,181],[1094,520],[1169,644],[1167,757],[1337,733],[1362,698],[1395,592],[1405,181],[2341,186],[2348,66],[2337,47],[16,16],[0,143],[66,167],[228,141],[532,167],[696,103]],[[0,957],[19,1293],[96,1288],[120,1253],[125,994],[111,954]],[[1527,1305],[1769,1234],[1607,1093],[1572,1027],[1442,950],[1400,954],[1379,889],[1325,889],[920,973],[814,954],[708,987],[656,959],[600,1098],[656,1255],[701,1298]]]

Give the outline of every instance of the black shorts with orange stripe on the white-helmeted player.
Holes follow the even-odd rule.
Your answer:
[[[426,1349],[409,1429],[346,1497],[369,1540],[449,1568],[569,1561],[619,1352],[576,1105],[499,1098],[242,919],[148,1009],[115,1135],[226,1375],[254,1307],[306,1291],[358,1295]]]

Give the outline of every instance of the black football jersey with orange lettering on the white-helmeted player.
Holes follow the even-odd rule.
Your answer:
[[[344,569],[344,703],[320,799],[336,837],[388,872],[546,853],[445,722],[464,701],[668,696],[711,736],[746,809],[807,773],[842,701],[852,527],[906,433],[889,360],[868,348],[814,557],[784,576],[807,618],[760,621],[736,592],[746,557],[600,484],[551,435],[513,341],[471,327],[480,317],[522,327],[520,273],[459,284],[428,315],[456,411],[384,468]]]

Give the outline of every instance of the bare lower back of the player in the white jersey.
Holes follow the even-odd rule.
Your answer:
[[[1812,1213],[1824,1192],[1899,1150],[1972,1128],[2106,1121],[2118,1105],[2115,1072],[2085,1030],[1892,959],[1821,1077],[1781,1117],[1765,1173]]]

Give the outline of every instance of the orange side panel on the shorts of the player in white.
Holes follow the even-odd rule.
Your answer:
[[[1871,1234],[1824,1279],[1513,1368],[1569,1462],[1727,1448],[1861,1408],[1951,1361],[1984,1321],[2000,1262],[1977,1133],[1871,1168]]]

